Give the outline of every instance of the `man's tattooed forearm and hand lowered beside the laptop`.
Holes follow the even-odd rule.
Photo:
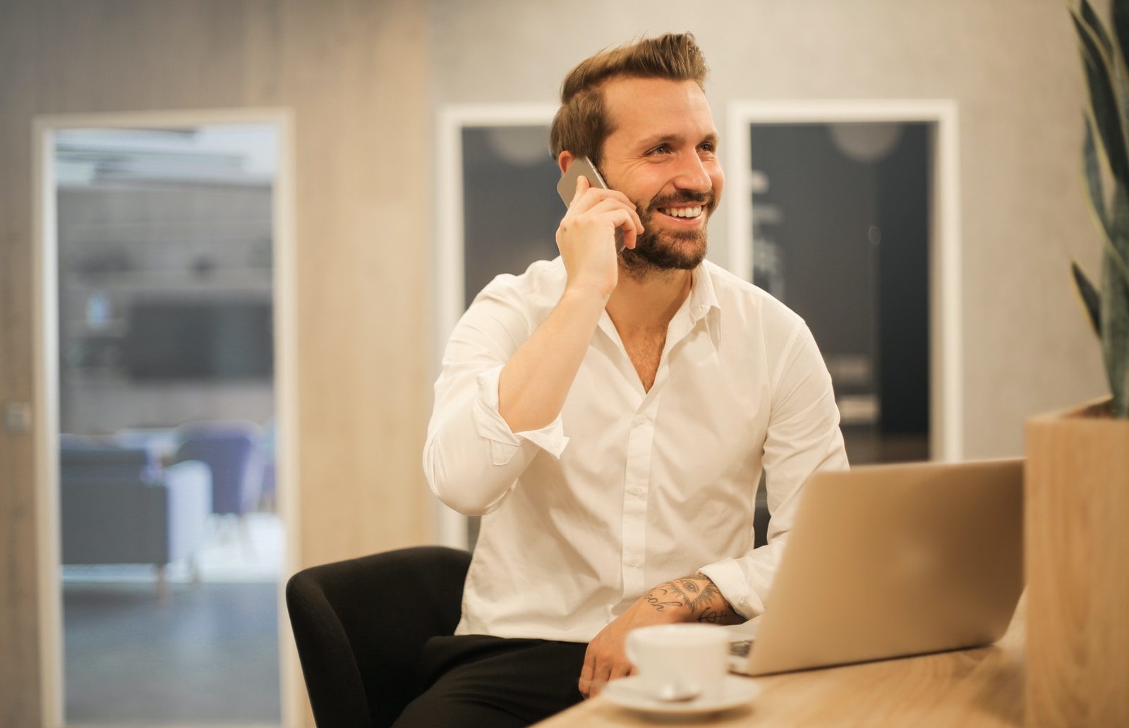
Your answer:
[[[695,573],[660,584],[593,638],[584,654],[577,687],[581,695],[590,698],[610,681],[634,673],[623,647],[628,632],[636,628],[676,622],[737,624],[743,621],[706,574]]]

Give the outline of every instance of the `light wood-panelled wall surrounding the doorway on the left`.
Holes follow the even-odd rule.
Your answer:
[[[301,563],[429,541],[430,121],[410,0],[6,2],[0,401],[33,397],[32,119],[292,107]],[[38,725],[32,438],[0,432],[0,726]]]

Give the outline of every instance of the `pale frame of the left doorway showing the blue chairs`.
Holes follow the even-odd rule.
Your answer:
[[[50,114],[33,119],[34,448],[36,551],[40,604],[40,700],[43,725],[64,726],[63,624],[59,518],[59,310],[54,140],[55,131],[82,128],[183,129],[220,124],[270,124],[278,131],[278,168],[271,200],[272,305],[274,310],[274,411],[278,509],[286,534],[278,584],[279,687],[282,726],[298,726],[305,691],[297,663],[285,589],[299,569],[298,347],[295,243],[294,111],[283,107]]]

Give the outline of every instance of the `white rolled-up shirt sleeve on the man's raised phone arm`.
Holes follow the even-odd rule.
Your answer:
[[[532,325],[520,302],[488,287],[455,325],[435,384],[423,446],[431,491],[467,516],[501,505],[539,450],[560,457],[568,444],[561,418],[514,432],[498,411],[498,379]]]

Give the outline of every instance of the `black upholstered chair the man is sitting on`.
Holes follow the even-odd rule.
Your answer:
[[[471,554],[418,546],[312,567],[286,586],[318,728],[391,726],[431,637],[458,624]]]

